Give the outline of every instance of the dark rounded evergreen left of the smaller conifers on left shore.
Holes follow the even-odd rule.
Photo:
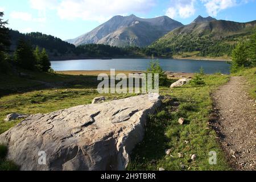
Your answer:
[[[33,70],[36,65],[36,58],[32,46],[24,40],[19,40],[14,52],[14,61],[21,68]]]

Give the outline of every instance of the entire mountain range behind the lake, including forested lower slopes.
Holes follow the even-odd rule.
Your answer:
[[[210,16],[198,16],[185,26],[168,16],[151,19],[138,18],[135,15],[114,16],[87,34],[68,40],[69,43],[39,32],[20,34],[10,30],[11,51],[15,50],[19,39],[24,39],[34,47],[46,48],[52,60],[127,55],[220,57],[230,56],[238,41],[247,40],[256,32],[255,27],[256,20],[238,23],[216,20]],[[126,46],[141,48],[122,49]]]

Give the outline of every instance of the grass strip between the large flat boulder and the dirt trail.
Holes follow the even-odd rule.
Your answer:
[[[128,169],[229,170],[216,132],[208,125],[212,111],[210,93],[228,80],[229,76],[211,75],[204,76],[204,86],[162,88],[166,99],[158,113],[151,115],[146,136],[133,151]],[[179,125],[179,118],[185,118],[184,125]],[[171,149],[172,156],[165,154],[166,149]],[[217,152],[217,165],[209,165],[210,151]],[[191,154],[197,155],[195,161]]]

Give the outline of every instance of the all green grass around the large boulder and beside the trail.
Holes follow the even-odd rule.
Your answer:
[[[247,69],[240,73],[247,78],[250,84],[250,94],[255,94],[256,69]],[[77,105],[90,104],[98,94],[97,80],[94,76],[55,75],[52,73],[30,73],[35,80],[47,81],[53,84],[60,83],[56,89],[40,89],[32,86],[23,93],[14,93],[0,98],[0,134],[9,130],[20,121],[4,122],[9,113],[49,113]],[[19,83],[19,79],[1,80],[13,86],[13,89],[28,88],[30,81]],[[205,75],[205,85],[185,85],[182,88],[170,89],[161,87],[160,94],[165,96],[162,107],[154,115],[150,115],[146,136],[142,143],[133,151],[129,170],[157,170],[163,167],[167,170],[229,170],[228,163],[216,141],[216,132],[208,125],[212,111],[210,93],[218,86],[225,84],[229,76]],[[25,79],[26,80],[26,79]],[[15,85],[15,83],[17,85]],[[38,84],[38,83],[37,83]],[[8,88],[8,86],[7,86]],[[129,94],[104,94],[108,100],[125,98]],[[185,118],[184,125],[179,125],[177,120]],[[186,144],[185,141],[188,141]],[[166,156],[165,150],[171,149],[171,155]],[[2,149],[0,147],[0,153]],[[3,150],[4,151],[4,150]],[[209,165],[208,153],[217,152],[217,165]],[[178,158],[178,153],[183,158]],[[190,155],[196,154],[195,161]],[[0,170],[17,169],[15,164],[8,160],[1,160]]]

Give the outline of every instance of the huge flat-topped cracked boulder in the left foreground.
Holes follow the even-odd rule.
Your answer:
[[[159,94],[146,94],[30,115],[0,143],[21,170],[123,170],[160,102]]]

